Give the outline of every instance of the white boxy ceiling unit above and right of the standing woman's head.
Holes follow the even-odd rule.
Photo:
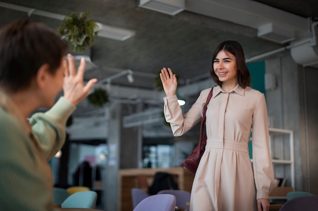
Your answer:
[[[274,23],[267,23],[258,28],[258,37],[284,44],[295,39],[295,30]]]

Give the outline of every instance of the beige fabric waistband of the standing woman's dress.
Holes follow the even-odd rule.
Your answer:
[[[245,142],[222,142],[216,139],[208,139],[205,148],[229,149],[233,151],[248,152],[248,145]]]

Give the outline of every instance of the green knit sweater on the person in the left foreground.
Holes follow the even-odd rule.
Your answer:
[[[47,161],[62,147],[66,121],[75,106],[61,97],[29,123],[0,92],[0,210],[53,210],[52,176]]]

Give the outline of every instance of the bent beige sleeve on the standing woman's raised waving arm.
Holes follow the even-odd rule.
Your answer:
[[[203,105],[206,102],[210,89],[200,93],[197,101],[184,115],[180,105],[178,104],[177,96],[164,98],[164,114],[167,122],[170,122],[172,133],[174,136],[181,136],[192,129],[200,122],[203,115]]]

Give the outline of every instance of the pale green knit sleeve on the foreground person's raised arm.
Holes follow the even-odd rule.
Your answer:
[[[46,160],[50,160],[65,143],[66,122],[75,108],[61,97],[50,110],[30,118],[32,133]]]

